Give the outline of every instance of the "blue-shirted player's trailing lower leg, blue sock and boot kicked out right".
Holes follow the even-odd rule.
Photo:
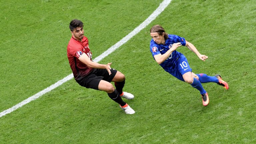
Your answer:
[[[218,85],[223,86],[225,89],[229,89],[228,83],[223,81],[221,76],[219,74],[215,76],[208,76],[207,74],[196,74],[198,76],[198,80],[201,83],[208,83],[208,82],[214,82]]]

